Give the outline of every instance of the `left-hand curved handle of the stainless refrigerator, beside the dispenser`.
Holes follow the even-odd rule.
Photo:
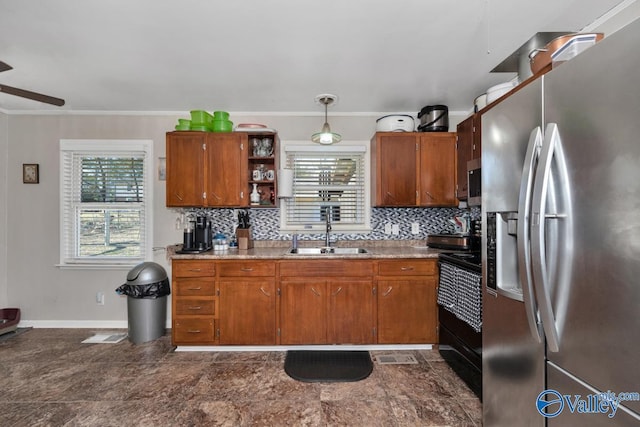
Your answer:
[[[537,342],[542,342],[542,332],[538,322],[538,310],[533,294],[533,277],[531,272],[531,248],[529,246],[530,235],[530,213],[531,196],[533,193],[534,171],[540,155],[542,146],[542,129],[536,127],[531,131],[527,154],[522,166],[522,181],[520,183],[520,196],[518,198],[518,273],[522,286],[522,298],[524,301],[524,311],[527,315],[529,330]]]

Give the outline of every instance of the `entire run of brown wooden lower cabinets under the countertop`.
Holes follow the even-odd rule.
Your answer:
[[[174,260],[174,345],[435,344],[435,259]]]

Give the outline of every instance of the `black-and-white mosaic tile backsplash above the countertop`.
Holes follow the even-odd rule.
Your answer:
[[[214,232],[231,235],[237,224],[234,209],[189,209],[185,214],[206,214],[211,218]],[[248,209],[255,240],[290,240],[291,234],[280,234],[280,209]],[[480,208],[371,208],[371,232],[344,234],[332,233],[339,240],[420,240],[429,234],[452,233],[454,226],[449,219],[468,213],[471,219],[480,218]],[[396,235],[385,234],[385,224],[400,226]],[[418,223],[420,232],[411,233],[411,224]],[[324,233],[301,234],[301,240],[320,240]]]

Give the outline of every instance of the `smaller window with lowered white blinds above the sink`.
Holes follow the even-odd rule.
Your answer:
[[[285,153],[293,197],[283,202],[283,230],[323,232],[327,215],[334,231],[369,229],[366,146],[285,146]]]

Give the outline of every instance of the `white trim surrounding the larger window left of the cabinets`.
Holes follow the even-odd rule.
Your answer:
[[[141,259],[112,259],[112,260],[91,260],[91,261],[74,261],[69,262],[65,258],[68,243],[67,230],[65,229],[65,214],[68,211],[64,199],[65,192],[65,153],[84,151],[97,153],[108,152],[144,152],[144,211],[145,211],[145,242],[142,248],[143,254]],[[153,141],[147,139],[61,139],[60,140],[60,263],[57,267],[69,269],[120,269],[129,268],[142,261],[151,261],[153,258]]]

